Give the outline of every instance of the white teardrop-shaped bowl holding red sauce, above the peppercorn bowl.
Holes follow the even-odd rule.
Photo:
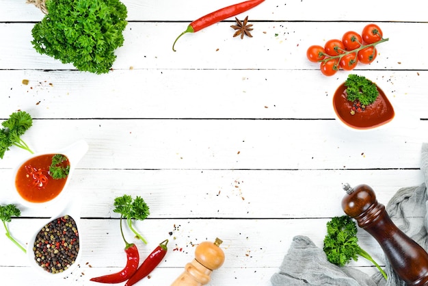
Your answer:
[[[18,202],[21,205],[24,205],[25,207],[48,207],[51,205],[57,206],[58,204],[60,205],[64,204],[64,201],[66,201],[65,199],[67,194],[66,189],[67,189],[68,183],[70,183],[70,178],[72,177],[72,173],[74,172],[77,166],[77,163],[79,163],[80,159],[83,157],[83,155],[85,155],[87,151],[88,151],[88,143],[86,143],[84,140],[80,140],[75,142],[74,144],[71,144],[70,146],[67,146],[66,148],[61,148],[50,152],[36,153],[25,158],[23,161],[21,161],[19,164],[16,165],[16,167],[12,172],[12,184],[13,184],[12,187],[13,187],[13,190],[15,190],[16,199],[18,200]],[[62,188],[62,191],[55,198],[44,203],[33,203],[28,200],[25,200],[18,193],[18,190],[16,190],[16,185],[15,185],[16,174],[19,168],[21,168],[21,166],[23,166],[23,164],[25,164],[26,161],[28,161],[31,158],[38,157],[40,155],[46,155],[46,154],[66,155],[66,157],[68,158],[68,161],[70,161],[70,172],[68,173],[68,177],[64,187]]]

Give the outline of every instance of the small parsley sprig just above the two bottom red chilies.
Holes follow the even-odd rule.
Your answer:
[[[125,194],[114,199],[113,211],[120,213],[120,224],[122,225],[122,218],[126,219],[126,224],[129,229],[135,234],[136,237],[142,240],[144,244],[147,244],[146,239],[140,235],[132,225],[132,220],[145,220],[150,214],[150,209],[144,199],[141,196],[136,196],[133,199],[131,196]]]

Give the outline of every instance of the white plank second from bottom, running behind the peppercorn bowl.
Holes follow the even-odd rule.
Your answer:
[[[169,252],[161,265],[163,268],[181,270],[185,263],[193,259],[194,249],[200,242],[211,241],[215,237],[219,237],[223,240],[221,247],[226,256],[224,269],[271,268],[272,272],[276,272],[295,235],[306,235],[316,246],[322,248],[326,233],[325,224],[328,220],[327,218],[298,220],[155,219],[135,224],[135,227],[148,239],[147,245],[132,239],[133,235],[128,229],[124,229],[124,235],[129,238],[129,242],[137,244],[142,252],[141,259],[155,249],[157,244],[164,239],[169,239]],[[26,237],[29,237],[33,231],[38,231],[38,227],[44,223],[43,221],[18,218],[10,223],[10,231],[18,241],[26,244]],[[118,223],[119,220],[81,220],[79,234],[84,251],[80,261],[81,265],[89,263],[93,268],[123,267],[124,261],[119,258],[125,258],[124,242],[120,236]],[[373,258],[384,265],[382,248],[375,239],[364,231],[360,231],[358,237],[360,246],[370,249]],[[2,266],[24,267],[28,265],[24,253],[14,246],[5,235],[0,235],[0,241],[3,246],[11,248],[7,252],[8,254],[0,252]],[[366,266],[370,264],[360,259],[358,262],[352,261],[349,265]],[[87,267],[85,266],[89,272]],[[86,278],[91,276],[88,272]],[[178,270],[178,272],[180,271]],[[220,272],[221,270],[219,270]]]

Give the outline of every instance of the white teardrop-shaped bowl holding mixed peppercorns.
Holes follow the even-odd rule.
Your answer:
[[[28,245],[27,245],[27,258],[29,260],[29,265],[34,270],[34,272],[45,276],[46,278],[64,278],[65,276],[68,276],[71,274],[73,270],[77,268],[79,265],[79,261],[81,260],[83,247],[82,247],[82,231],[81,231],[81,224],[80,224],[80,210],[81,210],[81,201],[78,198],[75,198],[74,200],[71,200],[70,203],[68,203],[64,209],[59,211],[55,216],[52,216],[51,218],[44,220],[40,223],[38,227],[36,227],[33,235],[29,238]],[[78,231],[79,236],[79,252],[77,252],[77,257],[75,259],[75,262],[70,265],[70,267],[67,270],[64,270],[63,272],[59,273],[51,273],[44,270],[38,262],[34,259],[34,242],[36,240],[36,237],[40,230],[46,225],[49,224],[49,222],[56,220],[57,218],[62,218],[63,216],[70,216],[73,220],[76,222],[76,227]]]

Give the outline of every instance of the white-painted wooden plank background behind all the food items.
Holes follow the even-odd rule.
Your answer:
[[[0,0],[1,120],[16,109],[29,112],[34,126],[24,140],[36,151],[79,139],[90,146],[68,189],[84,200],[85,252],[60,285],[96,285],[89,278],[123,267],[112,211],[122,194],[150,206],[150,217],[137,222],[149,242],[137,242],[142,259],[170,239],[165,261],[141,285],[170,285],[195,246],[215,237],[224,241],[226,261],[209,285],[270,285],[295,235],[322,247],[325,222],[343,214],[343,183],[371,185],[384,204],[400,187],[423,183],[423,1],[267,0],[239,15],[254,24],[253,38],[232,38],[230,18],[183,36],[172,51],[191,21],[235,2],[124,0],[124,46],[113,71],[93,75],[36,53],[31,29],[42,12],[25,0]],[[324,77],[306,49],[367,23],[378,23],[390,40],[373,64],[353,73],[379,84],[397,118],[384,129],[354,132],[332,111],[332,94],[348,73]],[[11,172],[25,156],[12,148],[0,161],[1,204],[16,203]],[[21,209],[10,229],[25,244],[54,211]],[[364,231],[359,237],[384,263],[374,239]],[[362,259],[351,266],[375,272]],[[2,285],[58,285],[29,271],[23,252],[0,235]]]

